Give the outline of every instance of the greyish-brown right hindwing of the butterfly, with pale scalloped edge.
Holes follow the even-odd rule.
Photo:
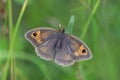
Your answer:
[[[56,52],[55,62],[62,66],[70,66],[74,63],[74,60],[71,56],[72,51],[70,50],[69,42],[64,39],[61,44],[61,49]]]

